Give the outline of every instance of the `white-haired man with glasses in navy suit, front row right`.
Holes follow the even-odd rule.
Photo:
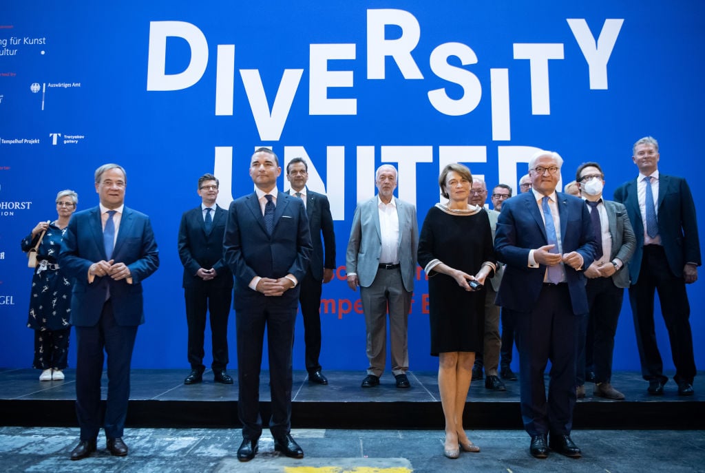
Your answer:
[[[582,199],[556,192],[562,164],[558,153],[532,156],[532,190],[502,204],[495,238],[497,259],[506,264],[497,305],[509,310],[513,320],[522,419],[532,438],[529,451],[537,458],[547,457],[549,447],[570,457],[581,455],[570,438],[575,343],[580,316],[588,312],[582,270],[592,264],[596,243]]]

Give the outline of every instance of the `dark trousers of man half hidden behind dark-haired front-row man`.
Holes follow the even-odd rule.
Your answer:
[[[301,281],[299,302],[304,319],[304,340],[306,343],[306,370],[309,373],[321,370],[321,281],[316,281],[311,269]]]

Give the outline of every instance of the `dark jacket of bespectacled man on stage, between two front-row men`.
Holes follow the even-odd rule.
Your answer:
[[[202,281],[196,276],[200,268],[215,269],[216,277],[208,281],[215,287],[233,288],[233,274],[223,258],[223,234],[228,212],[216,205],[213,228],[206,233],[203,210],[199,205],[185,211],[178,229],[178,256],[183,264],[183,287]]]

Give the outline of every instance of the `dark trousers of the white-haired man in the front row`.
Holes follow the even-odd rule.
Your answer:
[[[575,407],[575,343],[578,321],[567,284],[544,285],[531,312],[513,313],[519,349],[519,386],[529,435],[568,435]],[[551,360],[548,399],[544,370]]]

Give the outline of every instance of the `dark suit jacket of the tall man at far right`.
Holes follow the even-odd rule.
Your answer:
[[[637,237],[637,248],[629,265],[632,284],[639,279],[644,254],[644,222],[639,210],[637,180],[630,180],[615,190],[615,200],[627,207],[627,214]],[[658,175],[658,234],[666,252],[668,266],[673,276],[683,277],[686,263],[700,266],[700,240],[695,219],[695,204],[685,179],[675,176]]]

